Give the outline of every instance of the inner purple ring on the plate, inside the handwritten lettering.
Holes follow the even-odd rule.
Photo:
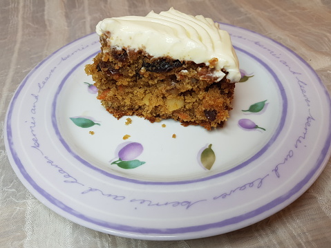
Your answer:
[[[91,57],[94,57],[97,53],[93,53],[93,55],[90,55],[88,57],[86,57],[86,59],[83,59],[81,62],[79,62],[79,64],[75,65],[68,73],[67,75],[62,79],[62,82],[59,84],[59,87],[57,88],[57,92],[55,93],[55,97],[53,99],[53,104],[52,104],[52,110],[51,110],[51,116],[52,116],[52,124],[53,124],[53,128],[55,130],[55,133],[59,139],[59,141],[62,143],[62,145],[64,146],[64,148],[68,151],[68,153],[70,153],[70,155],[73,156],[73,158],[77,159],[79,162],[81,162],[82,164],[84,164],[85,166],[88,166],[88,168],[91,168],[95,171],[98,171],[100,173],[102,173],[103,175],[106,175],[110,178],[114,178],[117,180],[122,180],[122,181],[126,181],[126,182],[132,182],[132,183],[137,183],[137,184],[189,184],[189,183],[194,183],[194,182],[202,182],[205,180],[210,180],[213,178],[218,178],[220,176],[223,175],[227,175],[229,173],[232,173],[233,171],[237,171],[238,169],[243,168],[244,166],[247,166],[248,164],[250,164],[251,162],[253,162],[254,160],[258,159],[261,155],[263,155],[263,153],[265,153],[265,151],[267,151],[267,149],[269,148],[269,146],[272,145],[272,143],[274,143],[274,141],[276,140],[276,138],[278,137],[279,133],[281,133],[283,126],[285,124],[285,119],[286,119],[286,115],[287,115],[287,97],[286,97],[286,93],[285,90],[283,88],[283,85],[281,84],[281,81],[278,79],[276,73],[274,73],[274,71],[269,68],[269,66],[267,66],[267,64],[265,64],[265,62],[263,62],[261,59],[258,59],[258,57],[252,55],[251,53],[248,53],[247,51],[241,49],[241,48],[237,48],[235,47],[236,50],[240,51],[241,53],[245,53],[246,55],[248,55],[249,57],[252,57],[254,60],[256,60],[259,64],[261,64],[268,72],[269,74],[272,75],[272,77],[274,78],[274,81],[276,82],[278,88],[279,88],[279,92],[281,94],[281,99],[283,100],[282,102],[282,113],[281,113],[281,120],[278,124],[278,127],[276,128],[276,131],[274,133],[274,135],[272,135],[272,137],[270,138],[269,142],[267,142],[267,144],[265,144],[265,146],[263,146],[263,148],[258,151],[257,153],[255,153],[251,158],[249,158],[248,160],[246,160],[245,162],[242,162],[241,164],[238,164],[237,166],[234,166],[234,168],[231,168],[227,171],[223,171],[221,173],[217,173],[215,175],[210,175],[208,177],[205,178],[199,178],[196,180],[182,180],[182,181],[170,181],[170,182],[155,182],[155,181],[143,181],[143,180],[136,180],[136,179],[131,179],[131,178],[124,178],[120,175],[114,175],[112,173],[109,173],[107,171],[104,171],[102,169],[97,168],[96,166],[93,166],[93,164],[90,164],[89,162],[87,162],[86,160],[84,160],[83,158],[81,158],[79,155],[77,155],[71,148],[70,146],[66,143],[66,141],[64,140],[64,138],[61,135],[61,132],[59,131],[59,127],[57,126],[57,115],[56,115],[56,109],[57,109],[57,98],[59,97],[62,88],[64,86],[64,84],[66,84],[66,81],[68,80],[68,78],[70,77],[70,75],[72,75],[75,70],[77,70],[77,68],[79,66],[82,66],[82,64],[85,64],[86,61],[88,59],[91,59]]]

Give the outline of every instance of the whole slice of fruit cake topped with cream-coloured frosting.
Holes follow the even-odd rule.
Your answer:
[[[173,119],[208,130],[229,117],[238,59],[229,34],[211,19],[171,8],[97,24],[101,53],[86,65],[97,98],[115,117]]]

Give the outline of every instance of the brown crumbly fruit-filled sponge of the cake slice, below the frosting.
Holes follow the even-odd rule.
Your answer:
[[[218,81],[213,76],[213,64],[113,48],[97,55],[86,73],[99,89],[97,98],[117,118],[138,115],[151,122],[171,118],[210,130],[223,126],[229,117],[235,87],[226,77]]]

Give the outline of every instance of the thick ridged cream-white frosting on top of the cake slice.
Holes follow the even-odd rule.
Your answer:
[[[153,57],[169,56],[207,66],[216,58],[214,77],[222,79],[224,68],[227,79],[240,80],[238,58],[229,33],[202,15],[193,17],[170,8],[160,14],[151,11],[146,17],[106,18],[97,24],[96,32],[106,35],[111,47],[143,49]]]

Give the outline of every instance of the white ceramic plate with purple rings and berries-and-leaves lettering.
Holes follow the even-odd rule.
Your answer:
[[[106,113],[84,73],[100,49],[92,34],[42,61],[12,97],[5,140],[19,179],[73,222],[149,240],[240,229],[296,200],[330,156],[328,92],[288,48],[221,25],[247,79],[224,128]]]

